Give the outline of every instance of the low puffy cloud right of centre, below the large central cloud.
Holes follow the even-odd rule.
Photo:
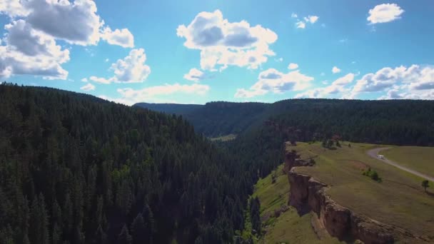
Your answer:
[[[249,89],[240,88],[236,91],[236,98],[251,98],[268,92],[283,93],[285,91],[300,91],[307,88],[313,77],[306,76],[300,71],[282,73],[275,68],[269,68],[258,76],[258,81]]]

